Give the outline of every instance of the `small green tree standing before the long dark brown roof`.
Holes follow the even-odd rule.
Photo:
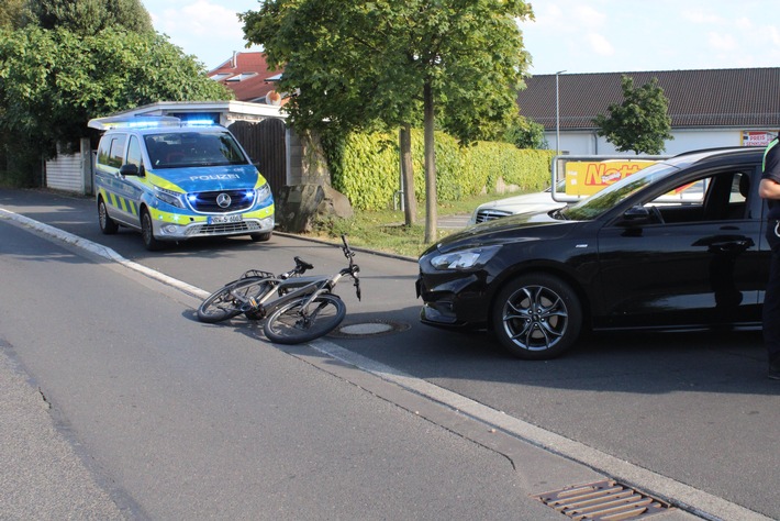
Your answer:
[[[610,106],[610,115],[599,114],[593,123],[598,134],[615,145],[620,152],[660,154],[665,140],[673,140],[671,119],[667,114],[668,100],[658,79],[634,88],[634,79],[623,75],[623,102]]]

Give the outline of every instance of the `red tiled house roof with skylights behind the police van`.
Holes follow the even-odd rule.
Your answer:
[[[232,58],[210,70],[209,77],[231,89],[237,101],[265,103],[280,73],[268,68],[264,53],[234,53]]]

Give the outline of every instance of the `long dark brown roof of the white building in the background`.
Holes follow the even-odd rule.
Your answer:
[[[623,102],[621,77],[634,79],[634,88],[658,78],[669,100],[671,126],[771,126],[780,128],[780,68],[710,70],[658,70],[558,75],[559,128],[594,129],[593,118],[609,114],[609,107]],[[520,113],[556,129],[556,75],[526,79],[517,95]]]

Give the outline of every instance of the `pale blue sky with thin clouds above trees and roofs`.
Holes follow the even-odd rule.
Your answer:
[[[245,48],[258,0],[142,0],[155,29],[208,69]],[[349,1],[349,0],[345,0]],[[780,67],[778,0],[535,0],[520,23],[532,75]]]

